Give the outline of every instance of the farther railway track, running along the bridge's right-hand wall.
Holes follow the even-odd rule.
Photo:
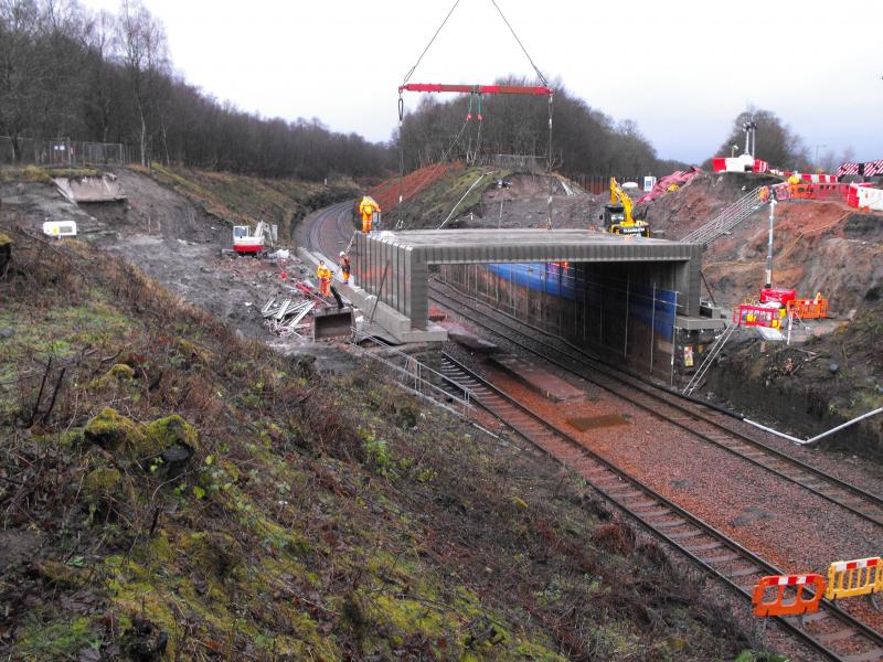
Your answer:
[[[727,417],[658,388],[638,377],[545,333],[456,292],[430,284],[429,297],[474,323],[526,350],[549,363],[608,391],[619,398],[671,423],[704,441],[796,483],[853,514],[883,526],[883,499],[776,450],[728,425]],[[538,334],[544,334],[541,340]]]

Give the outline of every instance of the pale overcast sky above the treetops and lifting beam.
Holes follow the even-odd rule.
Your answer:
[[[453,0],[143,0],[191,84],[267,117],[387,140],[397,86]],[[116,12],[117,0],[83,0]],[[549,79],[662,158],[702,161],[748,104],[810,150],[883,159],[883,2],[498,0]],[[628,12],[624,9],[628,8]],[[461,0],[414,83],[533,71],[490,0]],[[417,95],[409,95],[413,107]],[[525,99],[525,103],[531,103]],[[535,102],[534,102],[535,103]]]

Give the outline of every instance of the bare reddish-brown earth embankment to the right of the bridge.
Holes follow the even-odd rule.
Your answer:
[[[657,234],[684,236],[747,191],[773,182],[756,175],[700,175],[646,210]],[[756,298],[764,285],[769,207],[763,207],[705,252],[703,275],[726,307]],[[798,436],[815,436],[883,406],[883,214],[838,203],[776,206],[773,282],[830,301],[833,329],[797,349],[764,345],[743,333],[710,373],[706,394]],[[840,325],[837,325],[837,322]],[[826,446],[883,457],[883,418],[844,430]]]

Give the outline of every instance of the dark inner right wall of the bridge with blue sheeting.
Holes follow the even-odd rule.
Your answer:
[[[675,291],[555,263],[443,265],[437,279],[636,372],[673,382]]]

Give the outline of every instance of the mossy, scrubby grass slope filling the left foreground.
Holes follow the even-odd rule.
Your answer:
[[[163,659],[725,660],[745,645],[700,581],[551,462],[423,409],[372,364],[320,377],[96,249],[9,216],[0,232],[15,242],[0,278],[0,655],[151,659],[164,641]],[[174,469],[170,447],[194,455]]]

